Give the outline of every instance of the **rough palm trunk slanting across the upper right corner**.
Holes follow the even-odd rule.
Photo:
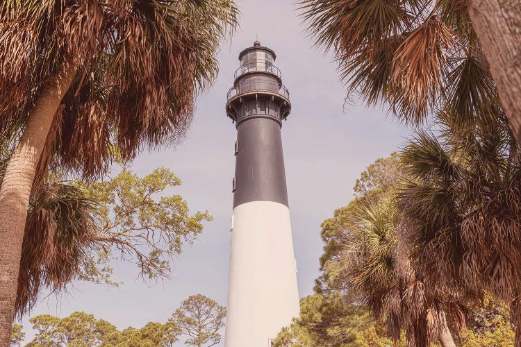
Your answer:
[[[511,129],[521,144],[521,0],[468,0]]]

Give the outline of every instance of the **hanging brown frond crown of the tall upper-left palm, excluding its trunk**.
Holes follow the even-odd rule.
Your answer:
[[[23,127],[65,60],[76,78],[63,99],[54,159],[83,176],[114,154],[176,142],[197,92],[217,74],[232,0],[7,0],[0,4],[0,132]]]

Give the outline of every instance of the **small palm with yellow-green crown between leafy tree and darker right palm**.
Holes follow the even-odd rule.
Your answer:
[[[424,286],[408,263],[408,251],[397,235],[400,223],[391,194],[358,208],[344,250],[350,288],[376,316],[386,317],[393,339],[399,339],[404,329],[408,346],[429,346],[430,341],[456,346],[443,299]]]

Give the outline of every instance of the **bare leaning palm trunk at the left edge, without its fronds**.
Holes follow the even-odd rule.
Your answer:
[[[3,176],[0,188],[0,346],[10,345],[22,241],[36,167],[53,117],[77,70],[78,63],[67,60],[42,88]]]

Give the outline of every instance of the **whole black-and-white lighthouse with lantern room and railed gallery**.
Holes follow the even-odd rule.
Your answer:
[[[281,127],[290,94],[275,52],[256,41],[239,54],[226,115],[237,128],[226,347],[270,347],[299,316]]]

